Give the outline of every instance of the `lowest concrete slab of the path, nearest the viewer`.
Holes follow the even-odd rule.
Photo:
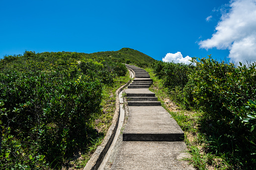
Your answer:
[[[194,169],[185,142],[123,141],[111,169]]]

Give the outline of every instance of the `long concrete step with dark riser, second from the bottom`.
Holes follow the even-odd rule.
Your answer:
[[[128,123],[123,133],[124,141],[182,141],[183,139],[184,132],[181,127],[163,107],[129,105]]]

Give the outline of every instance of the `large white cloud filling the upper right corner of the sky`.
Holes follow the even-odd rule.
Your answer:
[[[234,0],[224,7],[230,9],[222,13],[212,37],[199,42],[200,48],[228,49],[235,62],[256,61],[256,0]]]

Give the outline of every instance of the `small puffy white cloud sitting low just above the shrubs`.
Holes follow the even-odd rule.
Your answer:
[[[162,58],[163,62],[174,62],[174,63],[185,63],[185,64],[190,64],[191,62],[189,60],[191,60],[192,58],[187,56],[185,58],[183,58],[182,53],[181,52],[177,52],[175,54],[173,53],[167,53],[165,55],[164,58]]]

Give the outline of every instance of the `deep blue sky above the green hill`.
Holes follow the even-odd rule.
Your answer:
[[[0,58],[23,54],[25,50],[93,53],[117,51],[124,47],[156,60],[176,60],[186,56],[201,58],[210,54],[217,59],[231,58],[231,52],[239,54],[237,48],[232,49],[236,41],[239,46],[239,41],[230,37],[240,32],[224,41],[220,39],[227,33],[215,29],[217,26],[224,27],[223,30],[229,27],[230,24],[224,22],[231,23],[232,14],[236,14],[232,4],[237,3],[239,10],[247,1],[255,5],[255,0],[0,0]],[[254,27],[249,26],[250,29]],[[246,36],[251,37],[252,43],[256,42],[253,39],[255,34],[250,34],[252,30],[240,36],[240,43]],[[231,59],[240,60],[239,57]]]

